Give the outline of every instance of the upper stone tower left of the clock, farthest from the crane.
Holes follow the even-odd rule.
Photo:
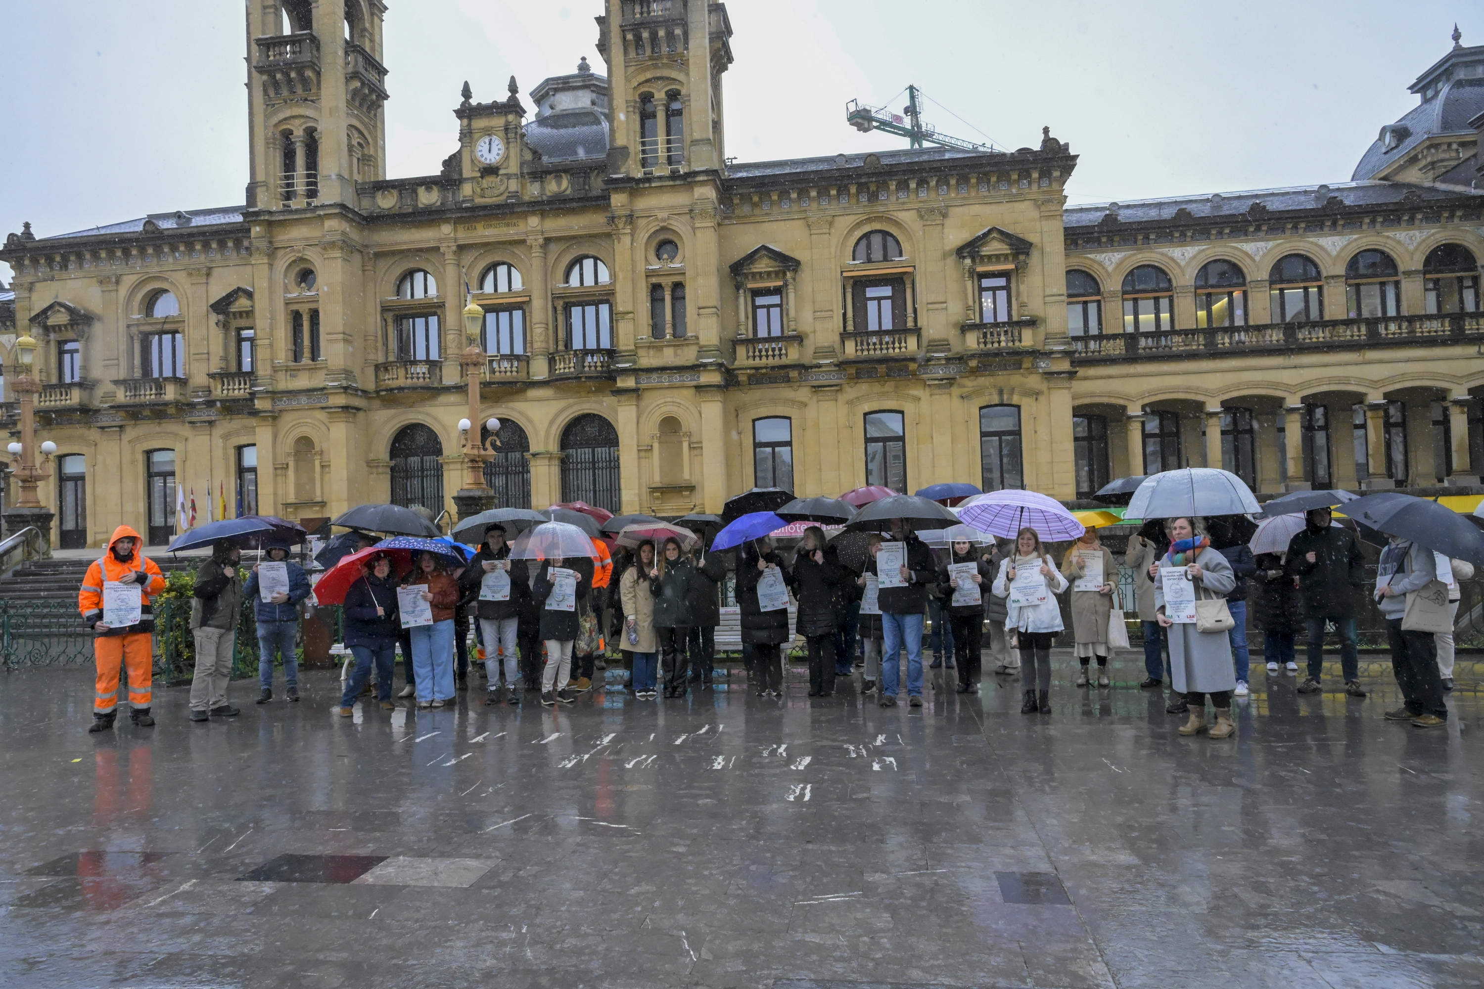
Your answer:
[[[249,209],[353,203],[386,178],[381,0],[248,0]]]

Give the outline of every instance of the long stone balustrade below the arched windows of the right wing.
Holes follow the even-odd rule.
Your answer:
[[[1484,314],[1462,313],[1172,329],[1158,334],[1103,334],[1073,337],[1071,345],[1074,357],[1082,360],[1134,360],[1290,350],[1359,350],[1426,341],[1477,341],[1481,337],[1484,337]]]

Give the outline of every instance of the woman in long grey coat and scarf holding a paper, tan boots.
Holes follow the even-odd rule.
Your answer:
[[[1169,552],[1159,560],[1159,566],[1183,566],[1195,584],[1196,601],[1221,599],[1236,587],[1232,565],[1211,549],[1202,519],[1172,519],[1169,538]],[[1165,614],[1163,581],[1155,584],[1155,614],[1169,638],[1171,687],[1186,695],[1190,709],[1190,721],[1181,725],[1180,734],[1193,735],[1206,730],[1205,698],[1209,694],[1211,706],[1215,707],[1215,725],[1209,735],[1230,738],[1236,732],[1232,724],[1236,669],[1232,666],[1229,636],[1226,632],[1196,632],[1195,623],[1171,621]]]

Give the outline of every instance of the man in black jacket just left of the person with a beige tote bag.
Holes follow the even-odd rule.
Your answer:
[[[1309,633],[1309,676],[1300,694],[1321,692],[1324,672],[1324,626],[1333,621],[1340,635],[1340,670],[1345,692],[1365,697],[1361,689],[1361,657],[1355,649],[1355,592],[1365,584],[1365,558],[1349,529],[1330,525],[1328,509],[1304,513],[1304,528],[1288,541],[1284,569],[1298,578],[1298,599]]]

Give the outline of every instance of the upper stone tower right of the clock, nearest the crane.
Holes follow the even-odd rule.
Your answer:
[[[608,64],[608,173],[635,178],[721,169],[721,74],[732,65],[727,6],[714,0],[605,0],[598,50]]]

